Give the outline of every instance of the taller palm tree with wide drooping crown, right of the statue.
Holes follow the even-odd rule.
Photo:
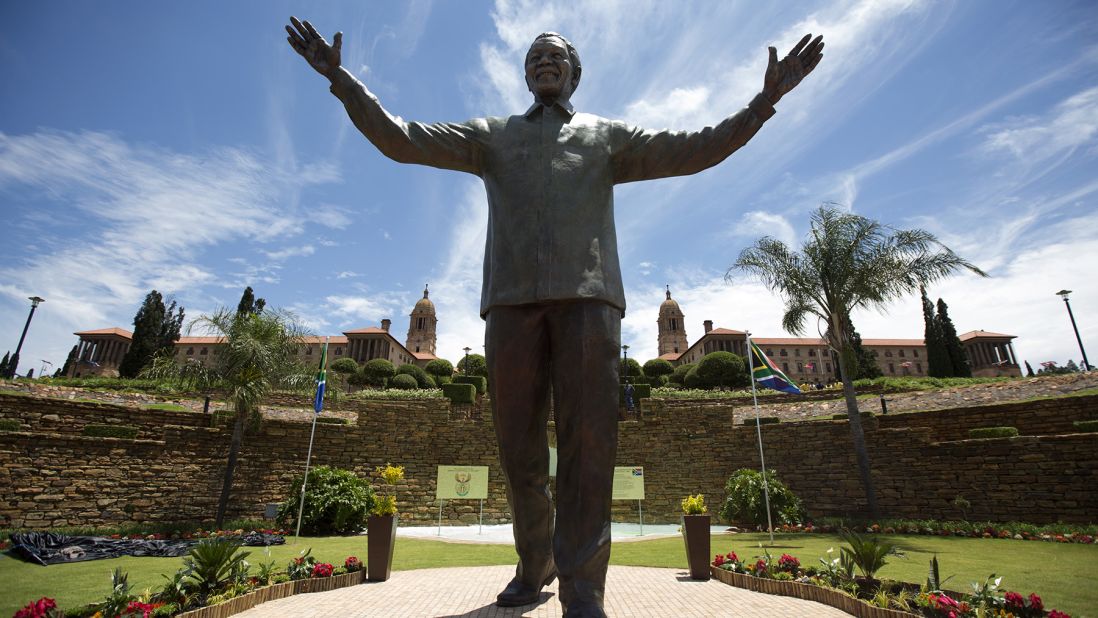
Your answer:
[[[893,229],[833,206],[820,206],[811,217],[809,236],[800,251],[769,236],[743,249],[728,270],[758,276],[785,301],[782,327],[805,332],[816,316],[827,324],[828,346],[839,353],[839,372],[847,398],[847,416],[871,517],[878,516],[870,474],[870,456],[858,414],[853,373],[856,360],[848,325],[855,308],[881,307],[919,285],[967,269],[987,277],[922,229]]]

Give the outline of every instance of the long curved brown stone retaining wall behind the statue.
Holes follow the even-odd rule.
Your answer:
[[[397,486],[404,520],[429,524],[439,464],[488,465],[484,523],[509,519],[496,463],[491,414],[451,409],[445,400],[361,402],[351,425],[316,426],[314,464],[373,477],[386,462],[406,467]],[[216,505],[229,430],[198,413],[142,411],[0,394],[0,527],[98,526],[210,519]],[[885,515],[1034,523],[1098,520],[1098,434],[1072,434],[1072,422],[1098,418],[1098,396],[889,415],[863,425]],[[618,464],[642,465],[648,523],[675,521],[680,501],[704,493],[719,509],[738,468],[758,467],[753,427],[736,426],[731,407],[706,401],[645,402],[643,417],[621,422]],[[138,427],[138,439],[86,438],[87,424]],[[967,440],[967,429],[1011,425],[1018,438]],[[259,518],[285,498],[300,474],[310,426],[265,420],[245,437],[231,518]],[[849,515],[862,490],[845,420],[763,426],[766,463],[810,514]],[[552,429],[550,428],[550,432]],[[1057,435],[1053,435],[1057,434]],[[636,520],[636,502],[615,503],[615,519]],[[477,521],[475,501],[450,502],[449,524]]]

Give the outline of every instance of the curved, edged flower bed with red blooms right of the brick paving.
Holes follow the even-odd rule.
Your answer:
[[[995,575],[982,586],[973,584],[973,594],[964,595],[904,582],[854,577],[852,565],[844,575],[839,559],[830,562],[820,559],[822,569],[817,570],[802,569],[800,561],[789,554],[782,554],[776,561],[764,554],[747,564],[736,552],[717,554],[709,568],[713,578],[752,592],[822,603],[859,618],[1071,618],[1055,609],[1045,613],[1037,594],[1029,597],[1016,592],[1000,594],[1001,577]],[[937,562],[933,568],[937,576]]]

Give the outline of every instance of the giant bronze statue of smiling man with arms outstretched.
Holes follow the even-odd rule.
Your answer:
[[[610,490],[617,452],[618,350],[625,292],[614,229],[614,186],[715,166],[774,115],[774,104],[822,57],[805,36],[778,61],[770,48],[762,91],[697,132],[649,131],[575,111],[580,56],[556,33],[526,54],[534,104],[509,117],[406,122],[340,66],[328,44],[290,18],[290,45],[332,82],[355,126],[393,160],[479,176],[488,190],[481,316],[500,463],[507,480],[518,568],[501,606],[538,600],[560,578],[571,618],[605,616]],[[549,493],[547,419],[556,407],[557,509]]]

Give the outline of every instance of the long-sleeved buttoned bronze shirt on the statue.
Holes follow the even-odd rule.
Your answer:
[[[463,123],[390,115],[346,70],[333,80],[355,125],[393,160],[479,176],[488,191],[481,315],[496,305],[594,300],[625,311],[614,186],[686,176],[746,144],[774,108],[762,95],[716,126],[648,131],[535,103]]]

